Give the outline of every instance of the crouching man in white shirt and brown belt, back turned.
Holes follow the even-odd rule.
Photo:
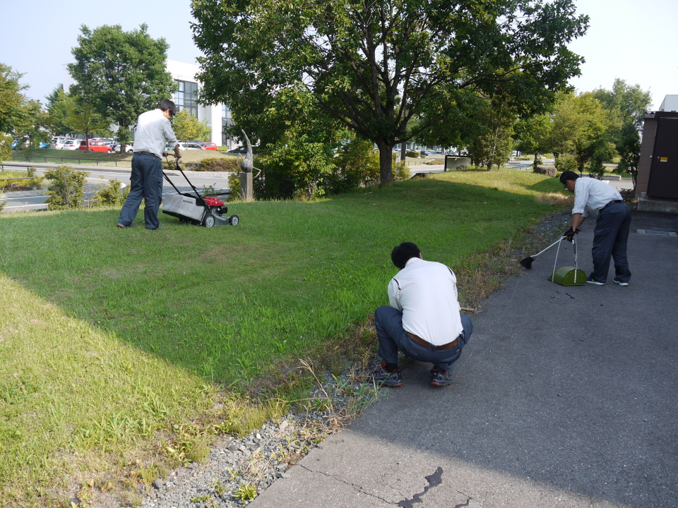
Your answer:
[[[381,368],[372,377],[383,385],[403,385],[398,351],[417,361],[433,363],[431,385],[452,382],[452,369],[468,343],[473,325],[460,314],[457,278],[439,262],[424,261],[411,242],[400,243],[391,253],[400,269],[388,284],[390,306],[374,311]]]

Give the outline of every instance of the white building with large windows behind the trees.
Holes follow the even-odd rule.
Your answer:
[[[232,139],[227,138],[224,132],[225,127],[232,124],[230,109],[225,104],[211,106],[198,104],[198,90],[201,88],[201,83],[198,82],[196,75],[199,71],[200,67],[191,63],[167,60],[167,72],[179,85],[177,92],[174,92],[173,99],[174,104],[177,104],[177,112],[182,109],[188,110],[191,116],[207,123],[212,131],[209,141],[219,146],[234,148],[236,144]]]

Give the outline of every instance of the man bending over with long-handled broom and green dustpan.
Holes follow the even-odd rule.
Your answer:
[[[614,284],[628,286],[631,279],[626,242],[629,240],[631,210],[617,189],[597,179],[563,171],[560,182],[574,193],[572,226],[565,231],[567,240],[577,234],[589,212],[597,212],[593,230],[593,272],[586,282],[603,286],[607,281],[610,257],[614,258]]]

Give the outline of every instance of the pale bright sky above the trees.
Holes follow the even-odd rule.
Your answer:
[[[612,90],[615,78],[640,85],[657,109],[665,95],[678,94],[678,0],[575,0],[590,16],[588,33],[571,44],[585,57],[579,92]],[[81,25],[148,25],[150,36],[165,37],[170,60],[196,63],[200,54],[190,28],[190,0],[117,0],[105,4],[59,4],[53,0],[0,0],[0,62],[23,73],[26,94],[41,100],[67,82],[66,63],[78,44]],[[11,13],[11,16],[7,16]]]

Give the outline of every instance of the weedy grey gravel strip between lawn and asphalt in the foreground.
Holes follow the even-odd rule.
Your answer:
[[[365,379],[365,375],[360,380]],[[325,437],[340,430],[359,409],[378,396],[373,385],[328,377],[309,397],[307,411],[288,413],[280,422],[269,421],[245,437],[220,437],[204,464],[192,463],[141,485],[142,508],[236,508],[249,503],[242,492],[260,493]],[[112,495],[100,495],[91,506],[126,506]]]

